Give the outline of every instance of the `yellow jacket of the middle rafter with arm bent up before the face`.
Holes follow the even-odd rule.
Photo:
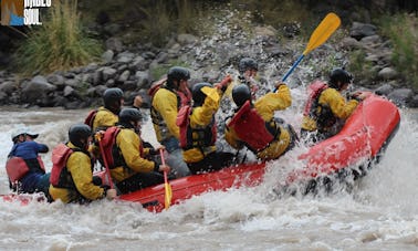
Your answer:
[[[223,94],[223,92],[219,88],[211,88],[213,92],[210,96],[207,96],[205,98],[203,105],[198,107],[192,107],[192,113],[189,116],[189,126],[192,129],[198,128],[206,128],[209,126],[217,126],[215,125],[215,118],[213,115],[217,113],[219,108],[220,98]],[[217,91],[216,91],[217,90]],[[208,128],[210,129],[210,128]],[[215,135],[216,137],[216,135]],[[199,138],[197,133],[192,134],[192,140],[202,140]],[[185,163],[197,163],[205,158],[210,153],[213,153],[217,150],[217,147],[213,144],[210,144],[208,146],[203,146],[202,148],[194,147],[190,149],[184,149],[182,157],[185,159]]]

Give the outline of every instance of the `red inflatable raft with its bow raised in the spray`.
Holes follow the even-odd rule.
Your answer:
[[[369,96],[358,105],[337,135],[311,147],[299,157],[306,164],[305,168],[289,174],[288,182],[312,180],[347,167],[378,160],[399,122],[399,111],[391,102],[380,96]],[[264,170],[264,163],[239,165],[171,180],[171,205],[207,191],[257,186],[262,182]],[[122,195],[119,199],[140,202],[148,210],[158,212],[164,209],[165,186],[161,184]]]

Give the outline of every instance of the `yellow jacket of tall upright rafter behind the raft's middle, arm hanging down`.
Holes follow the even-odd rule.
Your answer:
[[[178,139],[180,133],[176,119],[179,104],[176,93],[160,87],[153,97],[151,106],[151,118],[157,140],[161,143],[171,136]]]

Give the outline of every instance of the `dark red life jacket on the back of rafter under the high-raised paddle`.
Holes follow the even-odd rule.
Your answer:
[[[274,121],[264,122],[257,111],[251,107],[250,101],[247,101],[241,106],[228,126],[236,130],[237,136],[253,153],[263,150],[280,135],[280,129],[275,126]]]

